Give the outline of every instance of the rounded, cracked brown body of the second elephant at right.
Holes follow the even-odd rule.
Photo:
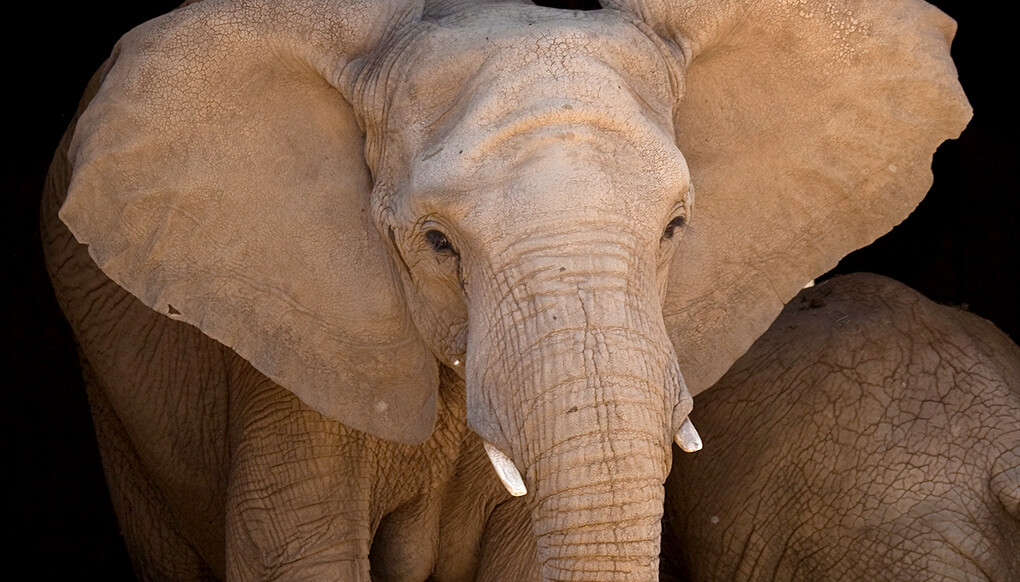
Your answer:
[[[696,411],[706,451],[666,484],[683,579],[1020,579],[1020,349],[987,321],[832,279]]]

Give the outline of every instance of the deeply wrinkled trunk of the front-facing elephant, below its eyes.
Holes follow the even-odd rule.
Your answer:
[[[670,441],[691,399],[654,270],[620,244],[533,247],[509,262],[523,268],[472,287],[496,307],[472,314],[486,339],[469,343],[469,423],[524,476],[544,580],[656,580]]]

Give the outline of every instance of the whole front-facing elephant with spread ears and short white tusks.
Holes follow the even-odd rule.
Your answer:
[[[917,0],[606,5],[206,0],[121,39],[43,222],[143,577],[470,579],[488,456],[545,579],[656,579],[692,395],[970,108]]]

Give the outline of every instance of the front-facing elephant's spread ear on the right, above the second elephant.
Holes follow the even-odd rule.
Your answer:
[[[970,118],[956,25],[917,0],[616,3],[686,69],[676,139],[696,201],[665,317],[698,393],[924,197],[932,153]]]

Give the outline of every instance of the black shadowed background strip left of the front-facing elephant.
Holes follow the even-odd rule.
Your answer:
[[[82,91],[132,27],[176,3],[31,3],[4,35],[9,133],[3,159],[0,342],[11,384],[4,517],[13,578],[133,580],[96,447],[70,328],[43,265],[39,200]],[[31,570],[28,570],[31,569]],[[23,571],[23,575],[18,575]]]

